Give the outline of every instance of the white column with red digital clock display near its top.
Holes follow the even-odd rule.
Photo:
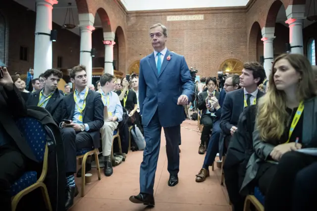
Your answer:
[[[104,32],[104,40],[111,41],[107,42],[105,45],[105,73],[110,73],[113,75],[113,45],[114,42],[114,32]]]

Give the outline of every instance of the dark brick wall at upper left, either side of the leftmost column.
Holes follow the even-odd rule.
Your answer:
[[[10,73],[26,73],[34,64],[34,32],[36,13],[13,0],[1,3],[1,14],[8,22],[8,62]],[[57,30],[57,42],[53,43],[53,67],[57,67],[57,56],[62,57],[62,67],[68,68],[79,63],[80,37],[53,23]],[[20,60],[20,47],[26,47],[27,60]]]

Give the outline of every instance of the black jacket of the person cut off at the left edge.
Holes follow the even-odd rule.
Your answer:
[[[26,115],[27,109],[24,100],[20,96],[20,91],[15,86],[12,91],[7,91],[0,86],[0,123],[8,135],[11,136],[21,153],[37,162],[31,148],[14,121],[14,119],[25,117]]]

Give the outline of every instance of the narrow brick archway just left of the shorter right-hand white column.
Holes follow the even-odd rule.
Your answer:
[[[249,42],[248,42],[248,59],[249,61],[257,60],[257,39],[259,31],[261,32],[261,26],[259,22],[254,22],[250,33],[249,33]]]

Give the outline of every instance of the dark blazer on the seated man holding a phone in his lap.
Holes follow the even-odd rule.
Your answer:
[[[88,88],[87,88],[88,89]],[[57,112],[61,112],[61,122],[63,119],[73,119],[75,111],[74,94],[66,95],[60,103]],[[83,124],[88,124],[88,133],[93,139],[94,148],[100,147],[100,129],[104,126],[104,103],[101,94],[89,90],[86,97],[86,107],[83,110]]]

